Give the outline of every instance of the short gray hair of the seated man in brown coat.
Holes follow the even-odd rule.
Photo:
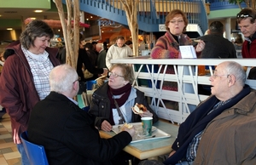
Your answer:
[[[240,64],[235,61],[229,61],[226,66],[226,71],[228,74],[234,75],[236,77],[237,83],[240,83],[242,87],[244,86],[247,75]]]

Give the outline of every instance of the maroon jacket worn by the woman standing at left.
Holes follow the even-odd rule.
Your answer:
[[[38,103],[39,96],[33,83],[32,72],[20,43],[12,44],[10,48],[15,54],[10,55],[4,62],[0,77],[0,105],[6,108],[11,118],[14,140],[27,128],[32,107]],[[59,65],[57,48],[46,48],[52,64]],[[17,141],[15,140],[15,143]]]

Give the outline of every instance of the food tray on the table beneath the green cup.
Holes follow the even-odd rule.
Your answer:
[[[142,122],[132,122],[130,124],[133,125],[133,127],[136,130],[143,128]],[[121,128],[122,126],[123,126],[123,124],[114,125],[112,128],[113,132],[115,134],[119,134],[119,132],[120,132],[119,128]],[[151,139],[169,138],[169,137],[171,137],[171,134],[167,134],[166,132],[153,126],[151,136],[139,136],[136,132],[136,134],[132,137],[131,143],[136,143],[139,141],[145,141],[145,140],[151,140]]]

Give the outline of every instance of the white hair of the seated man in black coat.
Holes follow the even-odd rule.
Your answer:
[[[77,71],[70,65],[57,65],[49,73],[50,91],[63,94],[71,92],[73,83],[79,78]]]

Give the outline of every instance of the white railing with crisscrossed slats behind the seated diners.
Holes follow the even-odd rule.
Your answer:
[[[205,76],[197,76],[197,65],[218,65],[227,60],[233,60],[243,66],[247,66],[247,75],[252,66],[256,65],[256,59],[159,59],[153,60],[149,56],[140,56],[137,58],[111,60],[112,63],[130,64],[133,66],[136,80],[134,87],[143,91],[148,96],[150,106],[160,118],[172,122],[181,123],[189,116],[195,106],[208,96],[198,94],[198,84],[210,85],[209,77],[213,73],[212,67],[209,67],[209,73]],[[160,72],[161,68],[167,65],[173,65],[175,74],[166,74]],[[150,84],[142,84],[140,80]],[[177,91],[162,89],[162,82],[177,82]],[[256,80],[246,82],[251,88],[256,89]],[[173,110],[166,107],[163,100],[176,101],[178,109]],[[169,101],[169,102],[170,102]],[[167,101],[168,102],[168,101]]]

